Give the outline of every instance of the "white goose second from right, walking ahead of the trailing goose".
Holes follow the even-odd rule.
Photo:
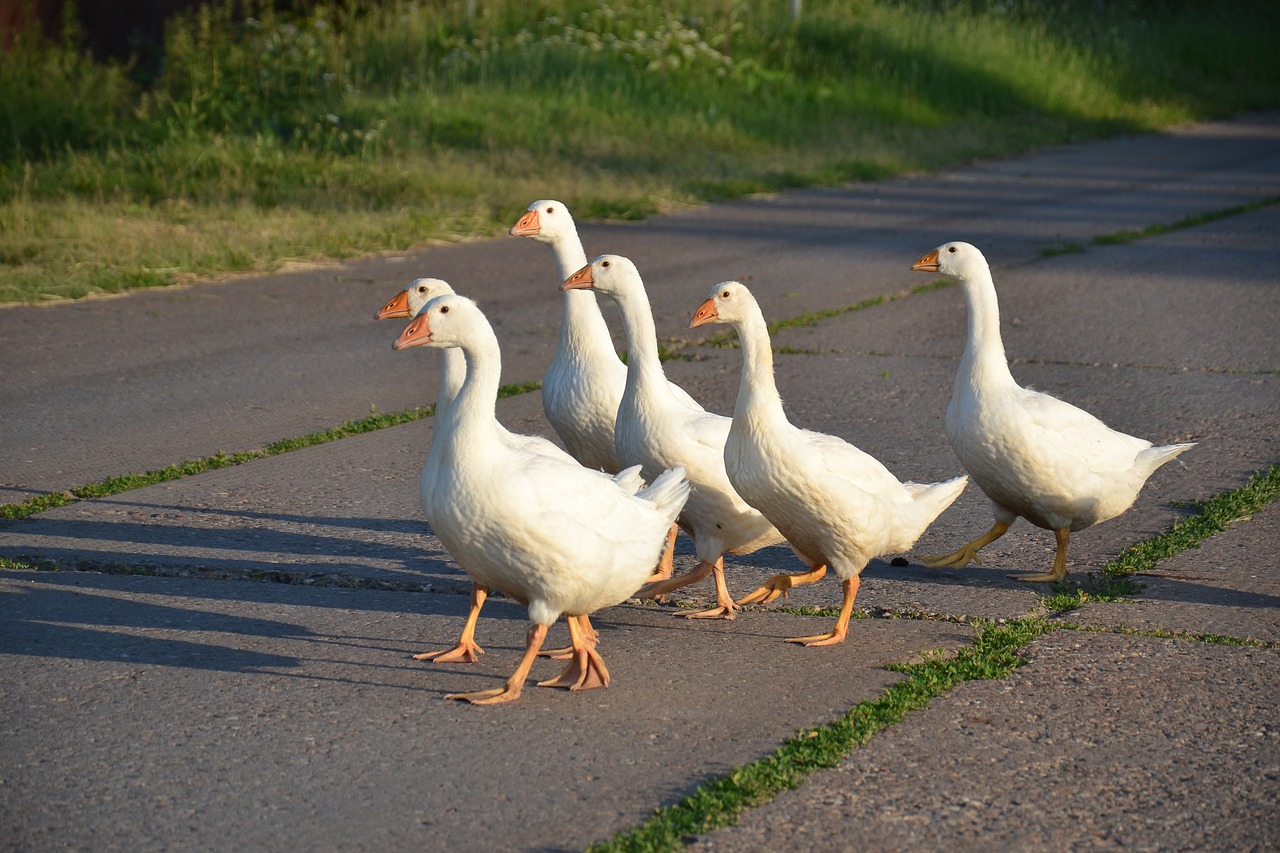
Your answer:
[[[845,639],[859,575],[872,557],[908,551],[959,497],[969,478],[920,485],[900,483],[873,456],[835,435],[787,420],[773,378],[768,327],[755,297],[739,282],[721,282],[694,314],[690,328],[727,323],[742,343],[742,378],[724,444],[724,469],[742,498],[764,514],[809,565],[774,575],[744,602],[767,603],[792,587],[840,578],[844,601],[828,634],[791,643],[832,646]]]

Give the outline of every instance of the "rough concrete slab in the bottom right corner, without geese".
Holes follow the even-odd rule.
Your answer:
[[[1025,656],[691,849],[1275,849],[1280,649],[1060,630]]]

